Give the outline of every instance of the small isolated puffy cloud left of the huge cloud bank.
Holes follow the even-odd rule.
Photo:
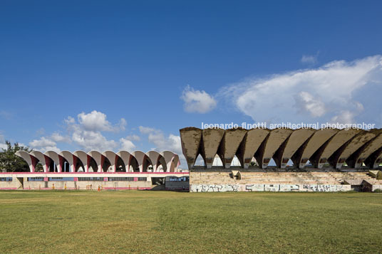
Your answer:
[[[180,97],[185,103],[186,112],[197,112],[197,113],[207,113],[213,110],[217,102],[216,100],[205,91],[194,90],[187,85],[185,90],[182,92]]]

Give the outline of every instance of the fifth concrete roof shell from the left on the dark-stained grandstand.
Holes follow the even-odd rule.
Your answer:
[[[257,150],[254,157],[257,163],[262,169],[267,169],[269,162],[271,161],[274,153],[279,149],[282,143],[287,140],[287,138],[293,132],[292,129],[272,129],[264,142]]]

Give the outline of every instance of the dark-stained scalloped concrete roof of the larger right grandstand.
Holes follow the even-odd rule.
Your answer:
[[[271,159],[277,167],[287,166],[289,159],[297,168],[310,161],[322,168],[330,163],[341,169],[366,164],[376,168],[382,163],[381,129],[180,129],[182,151],[189,169],[195,165],[199,154],[207,168],[212,167],[215,155],[229,168],[236,155],[245,169],[254,157],[263,169]]]

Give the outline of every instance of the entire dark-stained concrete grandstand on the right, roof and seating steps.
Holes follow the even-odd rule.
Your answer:
[[[381,133],[381,129],[180,129],[191,192],[375,190],[382,180],[368,169],[382,162]],[[198,156],[205,166],[195,166]],[[232,166],[235,156],[240,166]],[[222,166],[212,166],[214,157]],[[254,159],[258,166],[250,166]],[[276,166],[269,166],[271,159]]]

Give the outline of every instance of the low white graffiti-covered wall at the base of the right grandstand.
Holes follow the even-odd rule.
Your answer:
[[[190,184],[190,192],[225,191],[350,191],[350,185],[334,184]]]

